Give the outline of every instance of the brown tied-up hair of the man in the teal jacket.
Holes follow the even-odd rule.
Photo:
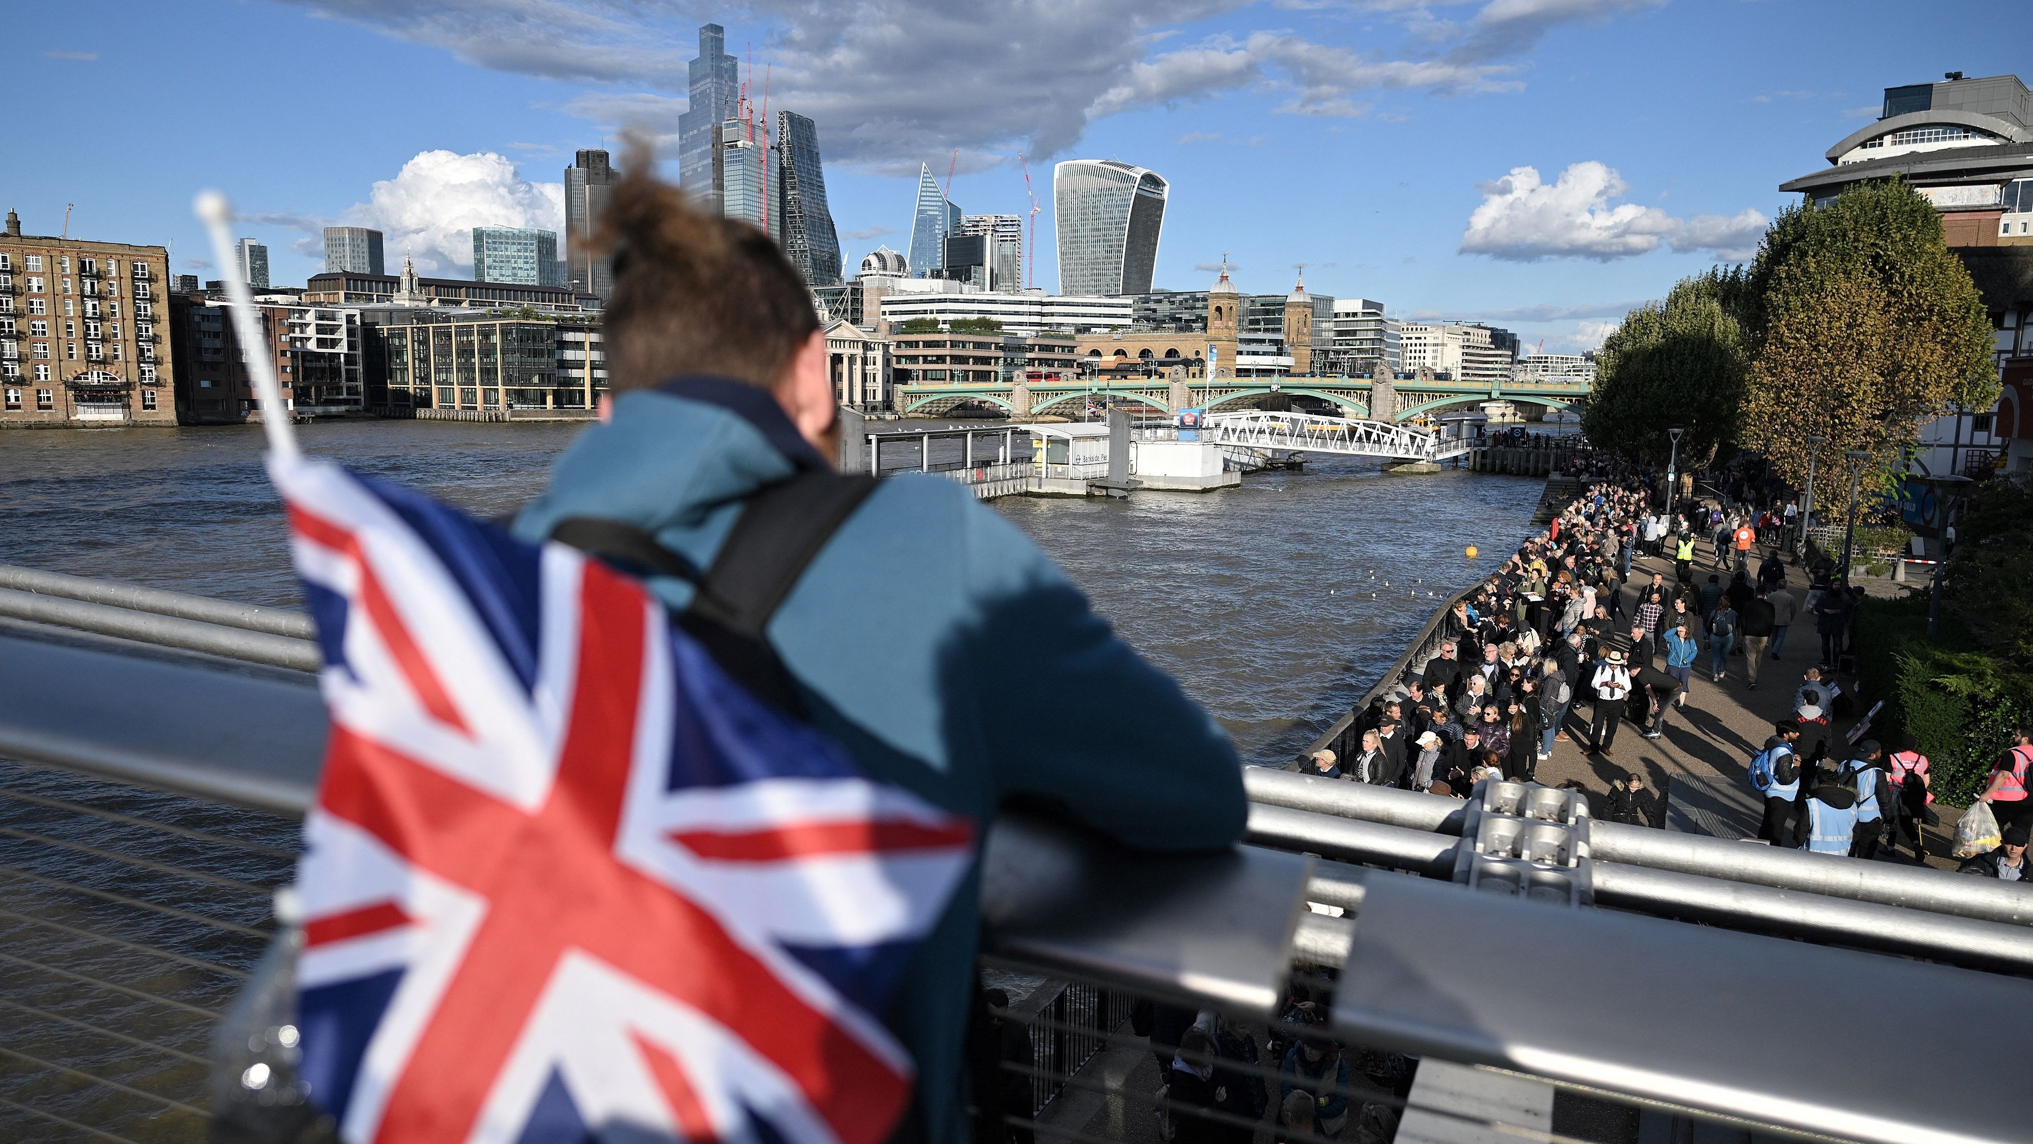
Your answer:
[[[811,293],[766,234],[703,212],[655,167],[630,138],[594,238],[614,265],[602,316],[612,389],[681,375],[775,387],[819,328]]]

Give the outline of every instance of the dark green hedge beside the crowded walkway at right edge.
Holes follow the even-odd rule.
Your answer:
[[[1911,731],[1933,763],[1933,794],[1968,806],[2015,727],[2033,723],[2033,678],[1982,651],[1950,613],[1927,637],[1927,596],[1866,598],[1856,615],[1864,708],[1885,700],[1870,737],[1893,749]]]

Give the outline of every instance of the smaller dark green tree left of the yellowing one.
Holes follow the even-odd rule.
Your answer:
[[[1665,464],[1673,425],[1683,468],[1700,468],[1736,434],[1744,395],[1744,334],[1732,313],[1740,271],[1681,279],[1663,303],[1645,303],[1596,354],[1582,432],[1616,452]]]

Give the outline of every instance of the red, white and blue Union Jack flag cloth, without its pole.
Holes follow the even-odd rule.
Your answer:
[[[272,460],[331,741],[301,1079],[350,1142],[878,1144],[874,1014],[974,826],[736,686],[634,580]]]

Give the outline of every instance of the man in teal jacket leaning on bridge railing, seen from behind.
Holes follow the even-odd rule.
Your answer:
[[[829,468],[838,409],[811,295],[775,242],[707,216],[638,151],[602,240],[612,401],[516,517],[527,541],[596,517],[705,568],[744,501]],[[649,580],[671,609],[675,576]],[[970,816],[1043,810],[1151,851],[1242,837],[1234,749],[1002,515],[941,476],[884,478],[805,568],[766,627],[811,721],[866,771]],[[980,865],[901,967],[882,1014],[917,1063],[901,1132],[970,1138],[962,1040]]]

